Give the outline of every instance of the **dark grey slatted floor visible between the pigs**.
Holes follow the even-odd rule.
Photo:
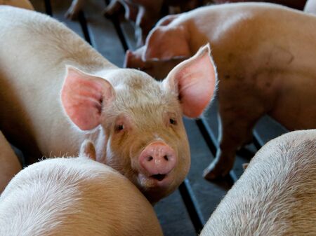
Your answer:
[[[71,0],[31,0],[31,2],[36,11],[52,15],[53,18],[64,22],[118,67],[123,65],[125,50],[136,48],[133,38],[134,28],[131,23],[103,17],[102,11],[107,1],[86,0],[84,11],[78,21],[67,20],[64,17]],[[235,167],[228,179],[217,183],[205,181],[202,171],[213,160],[217,146],[216,117],[215,101],[204,118],[185,119],[192,155],[190,173],[179,190],[154,206],[165,236],[197,235],[234,179],[242,174],[242,163],[249,162],[249,158],[256,152],[254,144],[247,146],[240,152],[244,157],[237,156]],[[284,132],[286,130],[282,126],[268,117],[261,119],[255,129],[255,134],[258,134],[257,143],[261,145]]]

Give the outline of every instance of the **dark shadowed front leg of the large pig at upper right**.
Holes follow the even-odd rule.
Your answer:
[[[258,119],[265,113],[265,109],[263,106],[258,105],[262,103],[254,99],[251,101],[251,97],[248,97],[246,100],[249,104],[246,107],[241,106],[244,104],[243,102],[232,104],[232,101],[230,101],[228,106],[225,106],[225,104],[228,104],[228,101],[225,101],[225,104],[220,106],[219,147],[216,152],[216,158],[204,170],[203,175],[205,179],[211,180],[227,175],[234,165],[237,149],[251,141],[252,129]],[[219,105],[221,105],[220,102]],[[253,106],[252,109],[250,109],[251,106]]]

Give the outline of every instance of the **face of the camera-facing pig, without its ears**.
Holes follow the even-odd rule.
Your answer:
[[[120,69],[112,76],[116,98],[105,108],[102,123],[106,163],[157,202],[179,186],[190,168],[178,95],[140,71]]]

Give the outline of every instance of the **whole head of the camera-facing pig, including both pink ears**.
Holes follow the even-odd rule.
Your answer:
[[[102,138],[96,138],[96,160],[117,169],[157,202],[179,186],[190,168],[182,116],[199,116],[215,85],[215,67],[204,47],[162,82],[136,69],[89,75],[68,67],[61,99],[81,130],[103,130]]]

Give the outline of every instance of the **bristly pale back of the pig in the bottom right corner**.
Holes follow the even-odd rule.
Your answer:
[[[211,214],[200,236],[316,235],[316,130],[272,139]]]

